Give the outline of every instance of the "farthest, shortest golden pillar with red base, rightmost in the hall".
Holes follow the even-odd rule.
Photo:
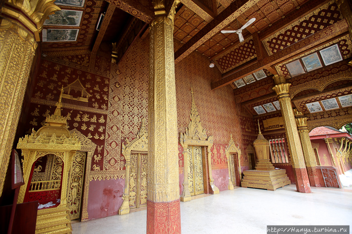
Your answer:
[[[294,113],[296,116],[296,124],[298,128],[298,133],[301,139],[304,160],[307,166],[307,172],[309,177],[310,186],[320,187],[320,182],[318,178],[318,174],[316,172],[317,162],[315,159],[315,155],[313,152],[312,144],[309,138],[309,130],[307,127],[307,117],[301,112],[298,112],[297,109],[294,109]]]

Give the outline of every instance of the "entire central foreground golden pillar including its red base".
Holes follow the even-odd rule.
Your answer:
[[[149,26],[147,233],[181,233],[173,2],[153,1]]]

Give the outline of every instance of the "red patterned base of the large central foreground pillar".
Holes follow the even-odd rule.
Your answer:
[[[181,233],[180,200],[147,200],[147,234],[152,233]]]

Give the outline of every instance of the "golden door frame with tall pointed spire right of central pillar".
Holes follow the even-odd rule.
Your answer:
[[[203,163],[203,183],[206,184],[207,190],[212,194],[219,193],[219,188],[215,186],[214,179],[212,175],[212,165],[211,165],[211,147],[213,146],[213,136],[207,136],[206,130],[202,127],[202,123],[200,120],[200,116],[197,110],[196,103],[193,97],[193,89],[191,89],[192,93],[192,107],[190,113],[190,122],[188,127],[185,128],[185,133],[180,133],[180,143],[184,148],[184,190],[181,194],[181,201],[190,201],[191,193],[189,188],[188,175],[190,172],[189,168],[189,158],[190,155],[188,153],[188,146],[201,146],[202,151],[205,152],[205,148],[207,149],[207,154],[202,154]],[[204,173],[206,171],[206,173]],[[208,176],[205,178],[204,174]],[[209,183],[207,183],[209,181]]]

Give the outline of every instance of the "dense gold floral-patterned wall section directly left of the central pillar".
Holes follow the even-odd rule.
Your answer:
[[[148,48],[147,39],[139,40],[132,44],[119,65],[111,65],[113,79],[110,84],[105,170],[124,169],[121,141],[132,141],[142,119],[148,117]]]

